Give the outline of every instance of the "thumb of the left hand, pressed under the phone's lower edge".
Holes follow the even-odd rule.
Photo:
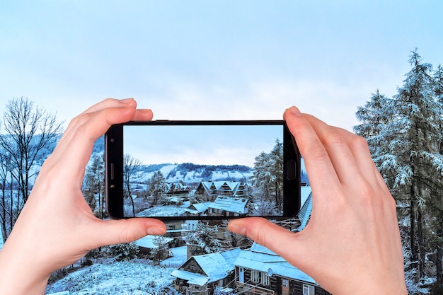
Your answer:
[[[99,220],[93,231],[96,236],[90,241],[96,241],[92,248],[119,243],[131,243],[146,235],[163,235],[166,226],[159,219],[132,218],[120,220]]]

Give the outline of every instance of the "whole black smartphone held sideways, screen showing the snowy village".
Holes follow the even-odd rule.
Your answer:
[[[112,125],[106,209],[113,219],[288,219],[300,208],[300,165],[284,120]]]

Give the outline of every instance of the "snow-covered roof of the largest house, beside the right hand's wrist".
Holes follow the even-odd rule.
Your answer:
[[[242,250],[236,259],[235,265],[260,272],[272,272],[272,274],[277,274],[280,277],[316,284],[309,275],[257,243],[254,243],[250,250]]]

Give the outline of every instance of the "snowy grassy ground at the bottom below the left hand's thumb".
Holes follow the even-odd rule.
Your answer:
[[[70,295],[154,294],[171,286],[174,267],[152,266],[142,259],[105,260],[72,272],[47,287],[46,293],[69,291]]]

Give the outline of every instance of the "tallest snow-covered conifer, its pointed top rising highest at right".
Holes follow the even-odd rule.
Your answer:
[[[422,63],[417,50],[411,52],[412,69],[405,74],[403,86],[393,96],[385,112],[393,114],[383,134],[386,154],[379,168],[390,178],[388,185],[399,204],[406,204],[410,221],[409,247],[411,267],[418,269],[417,279],[425,277],[425,212],[434,203],[432,190],[441,187],[441,178],[430,178],[438,169],[436,142],[442,137],[441,109],[432,91],[432,65]],[[393,177],[395,175],[395,177]]]

